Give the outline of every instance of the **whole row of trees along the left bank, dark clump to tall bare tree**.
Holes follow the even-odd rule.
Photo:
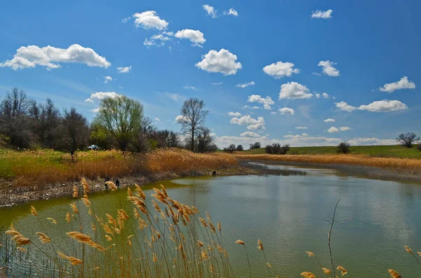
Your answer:
[[[89,123],[74,107],[60,111],[51,99],[38,103],[13,88],[0,102],[0,140],[15,149],[51,148],[72,155],[90,144],[132,152],[164,147],[216,151],[205,125],[208,111],[203,100],[187,99],[180,114],[181,132],[159,130],[140,102],[122,95],[102,99]]]

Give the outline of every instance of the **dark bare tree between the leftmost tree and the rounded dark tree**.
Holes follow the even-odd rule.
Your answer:
[[[54,148],[60,135],[60,112],[55,108],[53,101],[47,99],[46,104],[32,102],[29,116],[32,118],[32,134],[39,144],[44,148]]]

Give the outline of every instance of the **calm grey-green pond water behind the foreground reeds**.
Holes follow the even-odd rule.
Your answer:
[[[421,277],[420,265],[403,249],[406,244],[421,251],[419,184],[344,177],[328,169],[305,171],[307,176],[217,176],[161,183],[173,199],[195,203],[215,222],[222,223],[225,246],[239,273],[237,277],[247,276],[248,267],[242,246],[234,244],[236,239],[248,246],[253,277],[267,277],[265,260],[256,249],[258,239],[281,277],[300,277],[302,271],[323,277],[316,260],[307,257],[305,251],[316,253],[322,265],[329,267],[329,224],[320,218],[331,216],[338,199],[338,219],[349,219],[336,223],[333,229],[335,265],[343,265],[354,277],[389,277],[388,268],[406,278]],[[145,192],[149,195],[158,184],[145,186]],[[64,221],[69,200],[0,209],[0,225],[13,221],[22,234],[33,234],[34,226],[39,225],[34,216],[28,215],[31,205],[40,216]],[[127,205],[126,190],[93,195],[91,202],[97,214],[116,211]]]

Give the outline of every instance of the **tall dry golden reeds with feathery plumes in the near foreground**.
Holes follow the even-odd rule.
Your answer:
[[[29,273],[55,277],[236,276],[225,250],[222,225],[213,222],[208,213],[201,214],[196,207],[173,200],[163,186],[154,188],[152,205],[147,205],[147,196],[139,186],[135,186],[134,192],[128,188],[127,200],[133,204],[133,211],[118,209],[116,214],[104,216],[95,214],[85,179],[82,179],[81,187],[83,195],[79,196],[79,188],[75,186],[73,196],[80,197],[80,201],[72,202],[62,219],[44,218],[31,207],[30,213],[39,221],[39,226],[32,227],[36,231],[33,235],[22,235],[11,225],[6,231],[8,238],[0,242],[0,255],[7,257],[1,260],[6,265],[0,269],[10,276],[19,276],[28,268]],[[109,182],[109,188],[116,190],[112,182]],[[61,242],[39,231],[46,225],[57,227]],[[243,246],[248,260],[250,247],[246,242],[238,239],[235,244]],[[267,267],[269,277],[279,277],[267,261],[260,239],[257,248],[264,255],[262,265]],[[408,246],[405,249],[420,263],[417,258],[421,256],[420,252],[415,253]],[[48,267],[32,264],[31,252],[43,256]],[[322,265],[311,251],[307,251],[307,255],[314,257],[320,268],[302,272],[302,277],[352,277],[352,271],[335,265],[332,256],[332,264],[328,266]],[[20,268],[9,267],[13,263],[18,263]],[[252,267],[248,260],[246,272],[250,277]],[[387,272],[392,278],[401,277],[395,270]],[[387,272],[385,270],[385,274]]]

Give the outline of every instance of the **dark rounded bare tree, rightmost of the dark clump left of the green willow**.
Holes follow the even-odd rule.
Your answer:
[[[78,148],[84,148],[88,144],[89,132],[88,120],[81,113],[74,107],[69,111],[65,110],[60,125],[60,148],[69,151],[73,156]]]

